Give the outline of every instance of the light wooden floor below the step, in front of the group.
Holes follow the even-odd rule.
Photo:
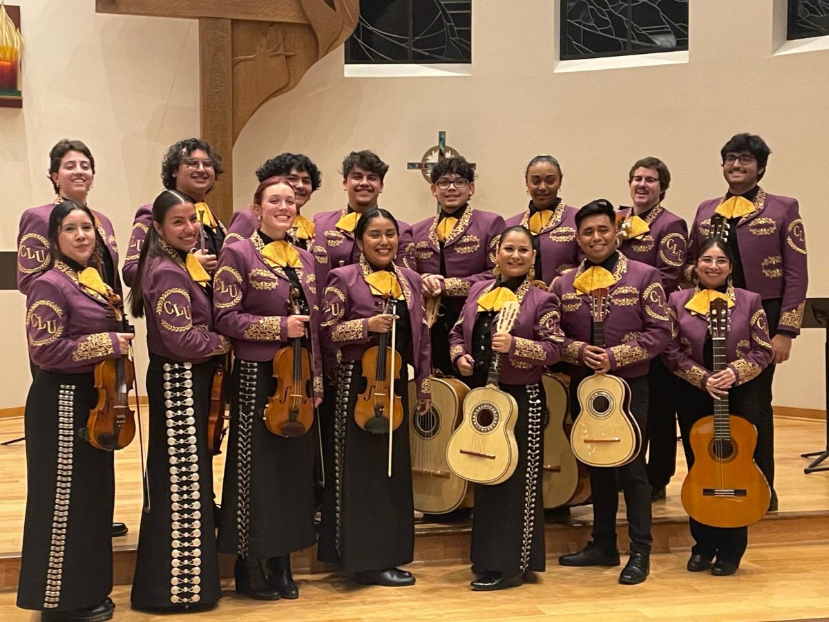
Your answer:
[[[749,547],[734,576],[691,574],[686,553],[652,556],[651,576],[618,585],[618,569],[565,568],[548,561],[537,582],[496,593],[473,592],[468,566],[409,566],[412,587],[354,586],[341,576],[298,576],[299,600],[275,603],[237,597],[225,581],[216,609],[191,615],[148,615],[129,609],[129,586],[116,586],[116,622],[138,620],[827,620],[829,546]],[[38,620],[0,594],[0,620]]]

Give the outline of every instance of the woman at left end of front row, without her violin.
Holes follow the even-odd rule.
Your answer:
[[[95,367],[128,353],[123,308],[95,257],[88,207],[59,202],[48,221],[51,267],[27,295],[29,356],[40,367],[26,403],[27,503],[17,606],[42,620],[109,620],[112,590],[111,451],[85,440]]]

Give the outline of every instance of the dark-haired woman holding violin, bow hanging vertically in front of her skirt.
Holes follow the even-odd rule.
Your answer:
[[[364,585],[414,584],[396,567],[414,556],[407,366],[429,411],[432,359],[420,277],[393,263],[399,231],[388,211],[361,215],[360,263],[331,271],[322,312],[322,343],[328,360],[339,350],[339,367],[318,555]]]

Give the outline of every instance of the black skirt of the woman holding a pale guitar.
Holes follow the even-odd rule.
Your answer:
[[[541,384],[501,385],[516,398],[518,465],[507,481],[475,487],[472,554],[475,566],[515,576],[545,570],[542,503],[544,388]]]

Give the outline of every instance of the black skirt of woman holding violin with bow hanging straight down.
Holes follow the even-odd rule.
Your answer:
[[[406,367],[403,367],[405,375]],[[333,442],[326,448],[320,561],[351,572],[404,566],[414,558],[414,498],[409,454],[407,379],[395,383],[402,396],[403,421],[392,436],[356,425],[354,406],[363,384],[361,364],[343,361],[333,414]],[[322,430],[326,430],[324,425]]]

